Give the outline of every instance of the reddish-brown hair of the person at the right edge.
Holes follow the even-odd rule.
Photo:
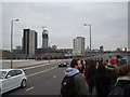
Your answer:
[[[118,68],[119,77],[127,75],[130,72],[130,65],[122,65]]]

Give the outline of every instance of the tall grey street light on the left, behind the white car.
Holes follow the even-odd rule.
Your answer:
[[[11,68],[13,68],[13,23],[18,22],[18,19],[11,20]]]

